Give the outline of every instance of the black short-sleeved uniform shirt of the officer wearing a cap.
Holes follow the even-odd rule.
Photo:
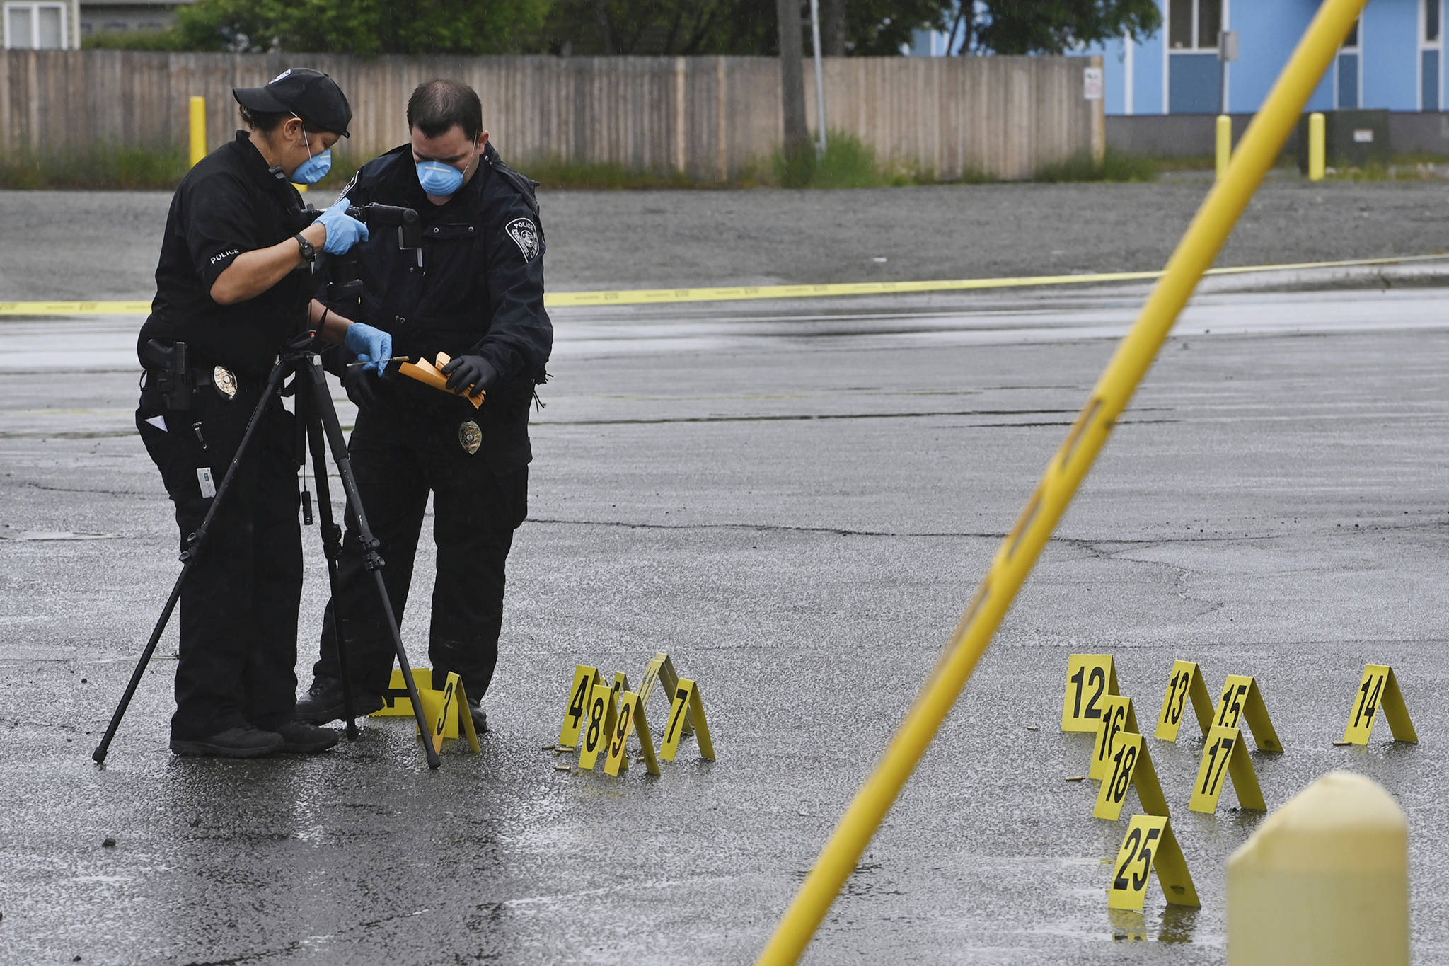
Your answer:
[[[156,264],[156,298],[141,326],[148,339],[185,342],[193,365],[225,365],[267,378],[277,353],[306,322],[310,277],[288,274],[255,298],[212,301],[212,284],[238,255],[301,230],[301,196],[267,161],[248,132],[197,162],[177,187]]]

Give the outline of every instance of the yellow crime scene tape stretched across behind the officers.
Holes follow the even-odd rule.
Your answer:
[[[1387,258],[1349,258],[1333,262],[1288,262],[1282,265],[1236,265],[1210,268],[1207,275],[1249,275],[1314,268],[1366,268],[1407,265],[1449,259],[1449,255],[1392,255]],[[564,291],[543,295],[549,308],[597,306],[667,306],[690,301],[748,301],[758,298],[830,298],[836,295],[901,295],[933,291],[978,291],[988,288],[1032,288],[1049,285],[1090,285],[1094,282],[1135,282],[1162,278],[1162,271],[1097,272],[1091,275],[1022,275],[1019,278],[942,278],[914,282],[835,282],[827,285],[732,285],[723,288],[619,288],[603,291]],[[149,301],[0,301],[0,316],[145,316]]]

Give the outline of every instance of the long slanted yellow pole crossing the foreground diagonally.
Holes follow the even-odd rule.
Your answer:
[[[1107,442],[1107,434],[1126,410],[1133,391],[1172,330],[1178,313],[1203,278],[1203,272],[1217,258],[1229,232],[1277,159],[1288,132],[1298,122],[1303,106],[1308,103],[1308,96],[1366,1],[1326,0],[1319,7],[1268,100],[1248,126],[1229,164],[1227,177],[1213,187],[1198,209],[1197,217],[1168,261],[1136,324],[1117,346],[1116,355],[1097,381],[1066,440],[1048,463],[1042,482],[1027,501],[1022,517],[997,550],[991,569],[981,581],[975,598],[956,626],[906,721],[895,731],[875,772],[856,792],[824,844],[800,892],[775,925],[775,933],[761,952],[758,963],[769,966],[794,963],[820,927],[840,886],[855,870],[865,846],[906,785],[906,779],[916,769],[916,763],[926,753],[951,705],[965,686],[966,678],[985,653],[1007,608],[1032,572],[1037,555]]]

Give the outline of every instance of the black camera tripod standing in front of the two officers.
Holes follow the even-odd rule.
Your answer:
[[[97,763],[106,762],[106,752],[110,749],[110,742],[116,736],[120,718],[126,714],[126,708],[130,705],[130,698],[136,694],[136,686],[141,684],[141,676],[145,673],[146,665],[151,663],[151,655],[156,649],[156,642],[161,640],[161,633],[171,620],[171,613],[175,610],[177,601],[181,597],[181,585],[185,582],[187,574],[191,572],[191,566],[196,563],[199,555],[206,549],[207,529],[232,487],[232,481],[236,476],[236,468],[246,455],[246,448],[256,432],[262,413],[283,391],[283,384],[287,381],[288,375],[296,375],[293,387],[296,388],[297,397],[297,421],[300,432],[306,434],[307,448],[312,453],[313,476],[317,484],[317,511],[322,523],[322,543],[327,556],[327,581],[332,588],[333,605],[336,605],[338,601],[338,558],[342,553],[342,530],[333,520],[332,500],[327,494],[327,448],[332,450],[332,459],[338,465],[338,475],[342,478],[342,490],[346,494],[348,510],[356,524],[356,534],[362,545],[365,566],[372,574],[372,579],[377,584],[377,592],[383,601],[383,613],[387,614],[387,626],[393,631],[393,647],[397,650],[397,663],[403,671],[403,681],[407,684],[407,697],[413,701],[413,715],[417,718],[417,727],[423,736],[427,736],[432,730],[432,726],[423,714],[423,702],[417,695],[417,684],[413,681],[413,668],[407,662],[407,652],[403,649],[403,637],[397,630],[397,618],[393,614],[393,602],[388,600],[387,587],[383,584],[383,558],[377,552],[378,540],[372,536],[372,529],[368,526],[367,514],[362,511],[362,498],[358,495],[356,481],[352,476],[352,461],[348,458],[346,440],[342,439],[342,426],[338,423],[338,411],[332,406],[332,392],[327,390],[327,378],[322,368],[322,358],[314,349],[314,333],[309,332],[293,340],[277,361],[277,365],[272,366],[271,375],[267,377],[267,387],[262,390],[262,395],[256,401],[256,408],[252,410],[251,419],[246,423],[246,430],[242,433],[242,442],[238,445],[236,453],[232,456],[232,462],[226,468],[226,475],[222,478],[222,484],[216,488],[216,497],[212,498],[212,505],[207,508],[206,517],[201,520],[201,526],[196,529],[196,533],[187,536],[185,549],[181,552],[181,574],[177,576],[175,587],[171,588],[171,597],[167,600],[167,605],[162,608],[161,617],[156,620],[155,630],[151,631],[151,640],[146,642],[145,650],[141,652],[141,660],[136,663],[136,671],[130,675],[130,684],[126,685],[126,692],[122,695],[120,704],[116,705],[116,713],[110,718],[106,736],[101,739],[100,746],[97,746],[97,749],[91,753],[91,757],[96,759]],[[298,455],[301,453],[298,452]],[[306,516],[309,517],[307,523],[310,523],[310,505],[306,508]],[[341,623],[341,620],[333,621],[332,633],[335,636],[333,643],[338,649],[338,669],[342,675],[342,707],[346,715],[348,737],[355,739],[358,727],[352,714],[352,684],[351,676],[348,675],[346,647],[343,646],[342,634],[338,630]],[[438,768],[438,752],[433,750],[432,742],[425,740],[423,750],[427,753],[427,766]]]

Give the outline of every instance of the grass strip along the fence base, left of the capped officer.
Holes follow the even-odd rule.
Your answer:
[[[0,156],[0,188],[174,188],[187,172],[180,148],[132,148],[97,142],[65,154]]]

